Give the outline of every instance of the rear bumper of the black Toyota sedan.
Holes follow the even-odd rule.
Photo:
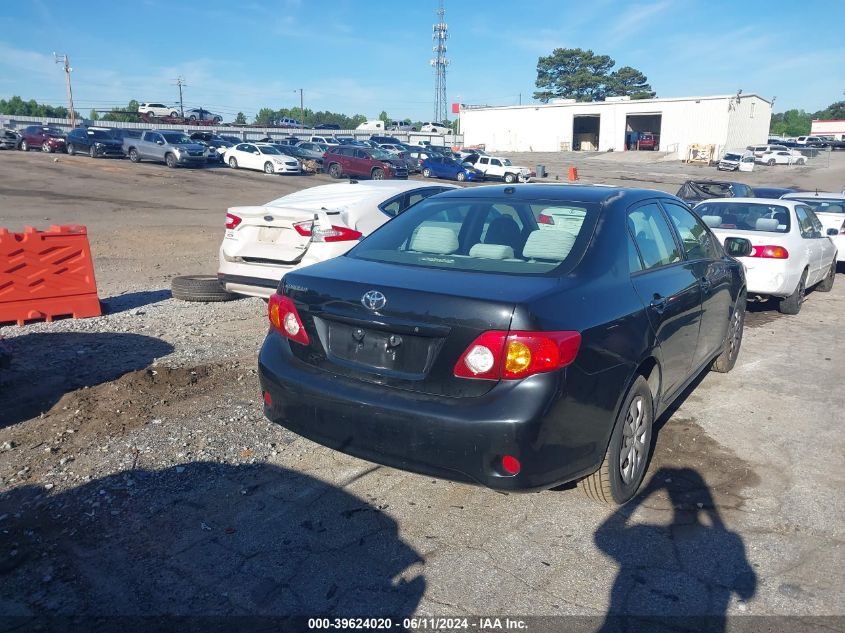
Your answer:
[[[267,417],[335,450],[387,466],[497,490],[551,488],[593,472],[614,414],[561,392],[561,373],[447,398],[353,380],[293,356],[271,331],[259,355]],[[572,368],[566,371],[571,371]],[[522,470],[508,476],[501,458]]]

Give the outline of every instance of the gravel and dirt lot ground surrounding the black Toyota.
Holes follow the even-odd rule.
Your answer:
[[[585,181],[672,192],[716,174],[513,158],[552,180],[577,164]],[[34,614],[843,625],[842,275],[798,316],[752,308],[736,369],[704,374],[664,416],[643,493],[614,511],[569,488],[502,495],[378,467],[263,418],[265,304],[179,302],[169,279],[216,270],[226,207],[328,178],[21,152],[0,165],[0,226],[87,225],[105,307],[0,328],[14,355],[0,370],[0,615],[15,630],[30,627],[11,616]],[[845,153],[729,177],[838,191]]]

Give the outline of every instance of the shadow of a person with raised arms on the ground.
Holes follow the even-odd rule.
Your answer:
[[[660,468],[594,541],[619,565],[602,633],[721,633],[733,596],[744,604],[756,593],[742,539],[692,468]]]

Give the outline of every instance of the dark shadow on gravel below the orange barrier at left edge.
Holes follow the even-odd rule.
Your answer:
[[[140,334],[32,333],[4,339],[11,362],[0,370],[0,428],[36,417],[66,393],[144,369],[173,351]]]

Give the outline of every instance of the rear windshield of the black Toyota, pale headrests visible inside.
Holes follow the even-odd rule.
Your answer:
[[[414,205],[349,252],[369,261],[472,272],[562,274],[592,236],[598,205],[437,199]]]

